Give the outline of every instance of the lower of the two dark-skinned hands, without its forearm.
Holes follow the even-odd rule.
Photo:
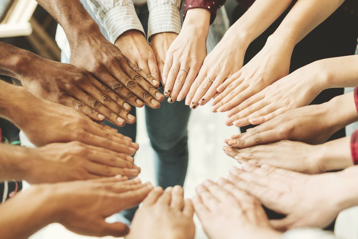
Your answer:
[[[134,123],[131,107],[88,71],[31,54],[19,77],[23,86],[35,95],[63,104],[96,121],[107,118],[113,124]]]

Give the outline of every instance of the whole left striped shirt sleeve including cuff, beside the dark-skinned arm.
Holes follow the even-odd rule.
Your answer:
[[[106,28],[112,43],[115,43],[117,38],[127,30],[139,30],[145,35],[132,0],[85,1],[95,13],[100,24]]]

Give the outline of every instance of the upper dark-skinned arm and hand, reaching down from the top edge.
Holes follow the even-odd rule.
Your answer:
[[[155,80],[132,63],[100,32],[97,23],[84,9],[80,1],[38,0],[62,26],[71,48],[70,63],[90,72],[102,84],[104,92],[113,91],[109,97],[118,96],[135,107],[144,104],[158,108],[164,96],[155,89]]]

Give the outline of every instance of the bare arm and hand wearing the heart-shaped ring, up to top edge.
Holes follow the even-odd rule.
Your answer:
[[[290,3],[291,0],[255,1],[205,57],[198,76],[190,87],[185,104],[195,109],[216,96],[217,88],[242,67],[248,45],[264,32]],[[267,11],[267,8],[270,8],[270,11]],[[191,10],[188,10],[188,13],[189,11]],[[205,77],[211,82],[204,80]]]

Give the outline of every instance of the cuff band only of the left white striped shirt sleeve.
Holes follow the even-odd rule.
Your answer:
[[[127,30],[139,30],[144,35],[144,29],[135,12],[134,5],[116,6],[108,11],[103,19],[110,41],[114,44],[117,38]]]

